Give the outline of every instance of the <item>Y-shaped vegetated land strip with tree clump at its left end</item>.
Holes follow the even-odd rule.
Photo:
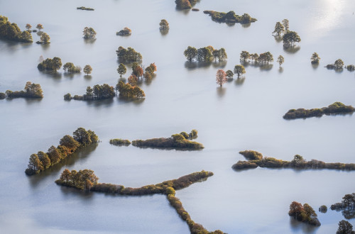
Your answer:
[[[60,175],[60,179],[55,181],[56,184],[62,186],[69,186],[75,189],[82,189],[87,191],[98,191],[105,192],[109,194],[121,194],[126,196],[142,196],[148,194],[165,194],[170,205],[173,206],[178,212],[180,218],[186,221],[189,225],[191,233],[212,233],[212,234],[222,234],[221,230],[215,230],[209,232],[201,224],[192,221],[189,213],[183,208],[181,201],[175,197],[175,190],[185,189],[187,186],[194,184],[196,182],[202,182],[208,177],[212,177],[212,172],[194,172],[192,174],[187,174],[179,179],[168,180],[159,184],[151,184],[147,186],[142,186],[141,188],[125,188],[123,185],[118,184],[99,184],[97,181],[98,177],[94,174],[92,170],[84,169],[79,172],[69,169],[65,169]]]

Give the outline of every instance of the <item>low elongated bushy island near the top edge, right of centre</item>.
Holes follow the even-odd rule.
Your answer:
[[[249,14],[244,13],[243,16],[238,16],[234,11],[218,12],[218,11],[203,11],[203,13],[208,14],[212,17],[212,21],[217,21],[219,23],[253,23],[257,21],[256,18],[251,18]]]

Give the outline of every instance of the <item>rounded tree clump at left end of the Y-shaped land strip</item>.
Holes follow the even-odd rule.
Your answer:
[[[60,179],[57,179],[55,183],[89,191],[92,186],[97,184],[98,180],[99,177],[97,177],[91,169],[83,169],[79,172],[76,170],[70,172],[69,169],[65,169],[62,174],[60,174]]]

